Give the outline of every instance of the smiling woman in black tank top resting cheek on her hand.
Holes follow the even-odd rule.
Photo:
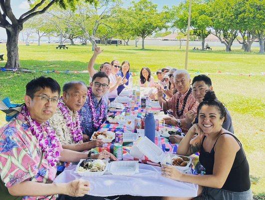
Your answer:
[[[238,138],[222,127],[226,110],[216,100],[214,91],[205,94],[197,113],[199,122],[181,140],[178,154],[191,155],[200,151],[199,159],[206,174],[185,174],[174,166],[163,165],[162,175],[198,184],[199,196],[194,199],[251,200],[248,160]],[[198,135],[192,139],[195,134]]]

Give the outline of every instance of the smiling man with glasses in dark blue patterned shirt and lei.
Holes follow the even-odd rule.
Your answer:
[[[108,106],[104,94],[109,89],[109,82],[105,72],[96,72],[90,82],[86,102],[79,111],[83,133],[89,137],[106,119]]]

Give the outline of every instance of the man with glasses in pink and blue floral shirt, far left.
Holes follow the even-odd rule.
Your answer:
[[[50,127],[48,119],[56,111],[59,94],[60,86],[54,79],[41,76],[31,80],[26,85],[21,112],[0,128],[0,199],[14,199],[13,195],[23,200],[54,200],[57,194],[88,193],[88,181],[52,183],[58,161],[76,162],[88,157],[88,153],[62,149]],[[110,157],[105,153],[91,157]]]

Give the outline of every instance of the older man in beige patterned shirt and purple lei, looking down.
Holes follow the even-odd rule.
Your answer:
[[[63,94],[59,99],[56,113],[49,119],[62,147],[75,151],[101,147],[103,141],[89,141],[89,137],[87,134],[82,134],[80,127],[78,111],[86,101],[87,87],[85,83],[81,81],[67,82],[63,85],[62,91]]]

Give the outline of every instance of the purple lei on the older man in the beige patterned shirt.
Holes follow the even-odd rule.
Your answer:
[[[80,127],[79,114],[77,112],[76,120],[73,122],[72,117],[70,115],[69,108],[65,105],[62,100],[62,97],[59,99],[58,108],[61,110],[63,118],[66,120],[66,125],[70,129],[70,132],[73,136],[73,140],[75,143],[83,139],[83,133]]]

